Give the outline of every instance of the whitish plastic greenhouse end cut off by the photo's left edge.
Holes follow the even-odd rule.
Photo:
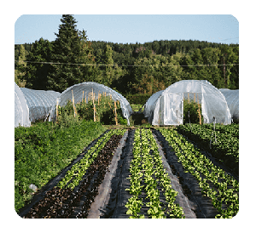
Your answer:
[[[30,127],[29,109],[26,105],[26,99],[19,86],[15,83],[15,127]]]

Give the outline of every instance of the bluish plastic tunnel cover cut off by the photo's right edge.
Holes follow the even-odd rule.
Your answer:
[[[239,122],[239,89],[230,90],[227,88],[219,89],[227,101],[230,108],[231,117],[235,122]]]

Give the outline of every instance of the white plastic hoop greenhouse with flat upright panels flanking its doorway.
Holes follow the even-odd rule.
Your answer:
[[[203,123],[231,123],[224,94],[206,80],[182,80],[153,94],[144,106],[144,116],[152,125],[183,124],[183,99],[201,104]]]

